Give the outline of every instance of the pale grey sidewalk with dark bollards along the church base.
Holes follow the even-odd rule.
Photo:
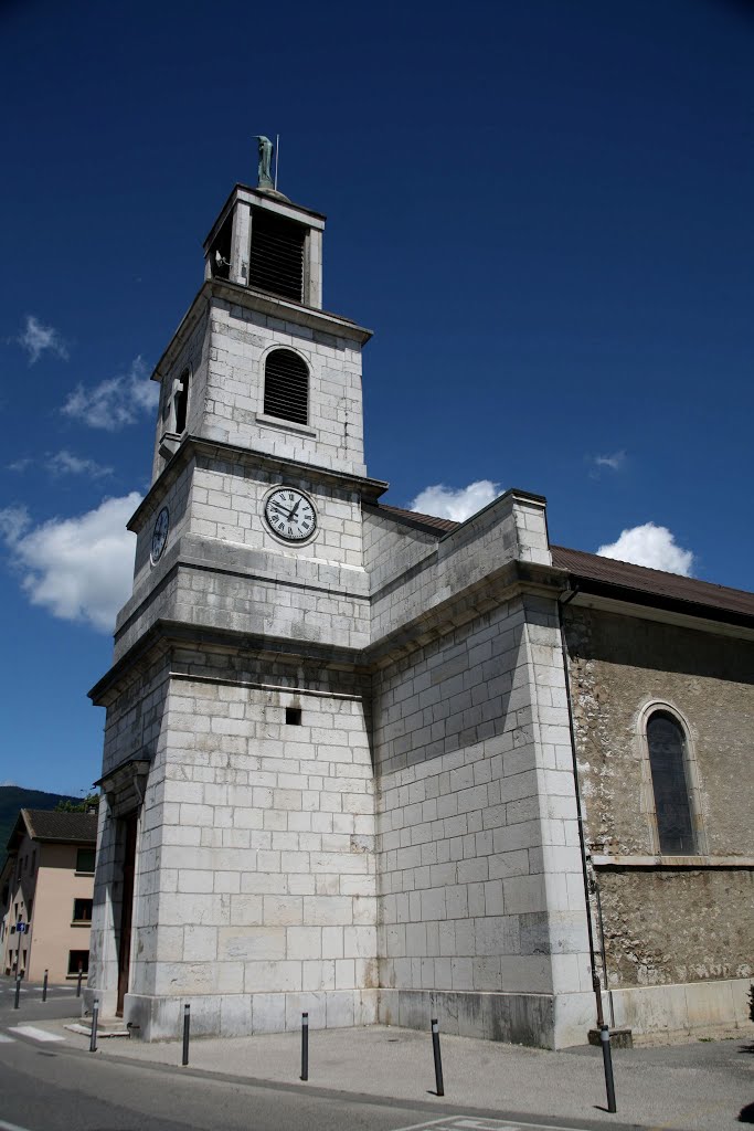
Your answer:
[[[88,1038],[63,1029],[70,1043]],[[684,1131],[742,1131],[738,1113],[754,1104],[754,1026],[736,1039],[653,1048],[615,1050],[617,1114],[605,1110],[599,1048],[546,1052],[469,1037],[441,1036],[445,1106],[547,1116],[606,1125]],[[296,1033],[255,1037],[196,1037],[189,1069],[181,1068],[180,1041],[144,1044],[101,1041],[97,1055],[200,1070],[239,1080],[331,1089],[391,1099],[433,1102],[434,1069],[430,1033],[371,1027],[310,1031],[309,1082],[300,1080],[301,1037]],[[417,1123],[423,1122],[417,1113]],[[432,1119],[427,1114],[426,1119]],[[749,1122],[754,1120],[752,1115]]]

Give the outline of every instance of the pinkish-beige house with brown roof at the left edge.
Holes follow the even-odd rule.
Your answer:
[[[95,813],[21,809],[0,873],[5,974],[63,982],[79,964],[87,973],[96,837]]]

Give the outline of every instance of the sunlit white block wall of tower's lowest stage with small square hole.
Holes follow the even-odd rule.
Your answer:
[[[297,1024],[304,999],[312,1024],[353,1025],[373,1008],[363,696],[327,673],[300,682],[271,662],[173,656],[159,824],[145,806],[125,1003],[142,1035],[168,1035],[161,1027],[184,1000],[215,1033]],[[301,725],[286,723],[286,707]]]

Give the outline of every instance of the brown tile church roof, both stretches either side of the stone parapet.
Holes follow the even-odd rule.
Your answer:
[[[385,503],[373,503],[372,509],[430,534],[450,534],[461,525],[449,518],[421,515],[418,511],[388,507]],[[754,593],[745,589],[729,589],[711,581],[681,577],[679,573],[666,573],[645,566],[600,558],[599,554],[590,554],[583,550],[551,546],[551,551],[553,566],[567,570],[582,582],[582,587],[599,588],[601,592],[608,588],[622,589],[624,599],[633,596],[640,604],[673,605],[681,611],[697,616],[705,615],[712,620],[719,618],[739,623],[742,620],[745,622],[749,618],[754,619]]]

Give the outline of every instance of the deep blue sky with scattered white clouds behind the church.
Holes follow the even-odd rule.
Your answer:
[[[754,588],[749,5],[27,0],[0,43],[1,780],[98,777],[147,377],[255,133],[375,330],[387,502],[515,485],[554,542]]]

